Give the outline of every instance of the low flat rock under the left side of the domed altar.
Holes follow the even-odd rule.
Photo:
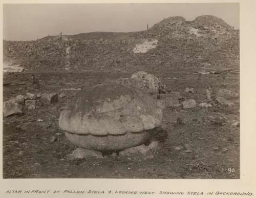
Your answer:
[[[96,150],[89,150],[84,148],[76,148],[71,154],[67,156],[67,160],[83,159],[83,158],[99,158],[102,159],[102,153]]]

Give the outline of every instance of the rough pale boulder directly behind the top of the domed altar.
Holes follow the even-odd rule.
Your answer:
[[[138,72],[133,74],[131,78],[119,78],[117,83],[134,86],[137,89],[146,90],[148,93],[158,93],[161,84],[156,76],[146,72]]]

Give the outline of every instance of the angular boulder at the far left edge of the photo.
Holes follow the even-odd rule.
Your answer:
[[[20,105],[16,100],[11,99],[3,103],[3,113],[5,117],[9,117],[17,114],[23,114],[23,111],[20,109]]]

